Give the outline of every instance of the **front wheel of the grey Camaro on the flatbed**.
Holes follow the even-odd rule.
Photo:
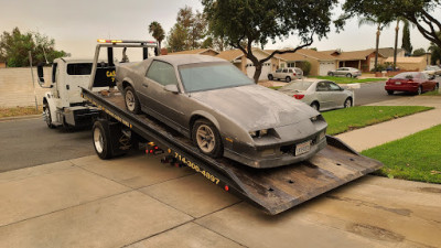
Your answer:
[[[217,128],[206,119],[198,119],[192,128],[194,145],[204,154],[212,158],[220,158],[224,154],[224,145]]]

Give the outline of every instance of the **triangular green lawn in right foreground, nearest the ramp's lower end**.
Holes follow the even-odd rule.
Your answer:
[[[363,151],[385,166],[375,174],[441,183],[441,125]]]

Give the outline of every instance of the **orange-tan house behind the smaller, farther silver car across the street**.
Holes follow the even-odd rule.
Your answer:
[[[338,61],[338,67],[354,67],[364,73],[370,72],[375,64],[375,48],[343,52],[338,50],[323,51],[322,53],[332,55]],[[381,64],[385,56],[378,53],[378,64]]]

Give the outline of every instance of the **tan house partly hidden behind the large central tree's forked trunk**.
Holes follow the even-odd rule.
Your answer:
[[[269,52],[254,47],[252,54],[258,58],[262,60],[270,55]],[[240,50],[228,50],[220,52],[216,57],[224,58],[226,61],[232,62],[237,68],[244,72],[249,78],[252,78],[256,72],[256,67],[252,65],[252,62],[248,60]],[[281,64],[286,64],[286,61],[279,56],[273,56],[268,62],[263,63],[262,71],[259,77],[259,80],[263,80],[268,78],[268,73],[276,71],[281,67]]]

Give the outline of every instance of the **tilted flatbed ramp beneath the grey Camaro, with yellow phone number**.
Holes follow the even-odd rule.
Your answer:
[[[228,159],[214,160],[198,152],[190,140],[158,120],[127,111],[119,93],[101,96],[83,88],[82,96],[111,117],[112,121],[155,142],[211,182],[272,215],[383,166],[380,162],[358,154],[331,136],[326,137],[325,149],[311,160],[292,165],[252,169]]]

